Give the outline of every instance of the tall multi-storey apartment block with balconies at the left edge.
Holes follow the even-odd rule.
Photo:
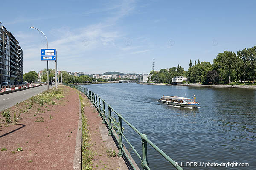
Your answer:
[[[18,40],[1,25],[1,22],[0,49],[1,83],[20,84],[23,82],[23,51]]]

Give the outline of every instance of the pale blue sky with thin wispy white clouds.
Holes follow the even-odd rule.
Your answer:
[[[254,46],[256,1],[12,0],[0,21],[23,49],[23,71],[41,71],[41,48],[58,51],[59,70],[149,73]],[[49,68],[55,63],[49,61]]]

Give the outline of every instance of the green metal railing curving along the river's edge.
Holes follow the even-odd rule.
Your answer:
[[[68,85],[70,87],[74,87],[78,89],[79,91],[83,92],[93,103],[94,107],[99,113],[99,116],[102,117],[102,123],[106,124],[108,126],[108,135],[111,136],[113,135],[118,142],[118,149],[119,153],[117,154],[118,157],[122,157],[123,155],[126,156],[128,161],[130,162],[131,166],[133,167],[134,170],[136,168],[134,167],[134,164],[132,163],[131,159],[129,159],[127,153],[125,152],[124,149],[124,144],[123,144],[123,139],[129,144],[131,149],[134,151],[134,153],[138,156],[138,158],[141,160],[141,166],[143,170],[150,170],[148,167],[148,155],[147,155],[147,144],[150,144],[158,153],[160,153],[161,156],[163,156],[167,161],[169,161],[177,170],[183,170],[179,165],[176,165],[175,161],[173,161],[166,153],[164,153],[162,150],[160,150],[159,147],[157,147],[153,142],[151,142],[147,135],[142,134],[139,130],[137,130],[131,123],[129,123],[125,118],[122,117],[121,114],[117,113],[110,105],[108,105],[103,99],[101,99],[98,95],[94,94],[92,91],[89,89],[82,87],[80,85],[70,85],[70,84],[64,84]],[[105,106],[107,106],[108,110],[105,110]],[[116,121],[113,120],[113,117],[111,114],[114,113],[118,116],[118,125],[116,125]],[[125,135],[122,132],[122,122],[125,122],[127,125],[129,125],[136,133],[138,133],[142,139],[142,156],[137,152],[137,150],[134,149],[134,147],[131,145],[131,143],[128,141],[128,139],[125,137]],[[114,128],[112,125],[115,126],[117,129],[117,135],[114,135]]]

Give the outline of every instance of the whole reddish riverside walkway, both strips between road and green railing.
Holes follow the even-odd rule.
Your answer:
[[[82,130],[78,91],[67,86],[58,87],[61,94],[55,95],[52,91],[49,96],[56,97],[46,100],[51,105],[39,105],[32,97],[9,108],[12,123],[6,124],[5,117],[0,116],[1,170],[81,169]],[[92,153],[90,164],[85,166],[93,170],[128,169],[122,158],[113,155],[113,150],[118,153],[118,149],[111,136],[107,135],[108,130],[87,97],[84,94],[81,96],[90,142],[86,149]],[[13,113],[17,113],[17,122],[13,121]]]

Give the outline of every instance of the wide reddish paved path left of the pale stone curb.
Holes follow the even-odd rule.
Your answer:
[[[73,170],[76,134],[81,132],[79,96],[75,89],[65,87],[64,92],[64,98],[54,99],[58,105],[47,105],[49,110],[34,103],[17,124],[2,124],[0,149],[6,151],[0,151],[0,170]],[[20,103],[17,110],[24,106]],[[38,116],[33,116],[38,108]],[[15,109],[10,108],[11,115]],[[35,122],[37,118],[42,122]]]

